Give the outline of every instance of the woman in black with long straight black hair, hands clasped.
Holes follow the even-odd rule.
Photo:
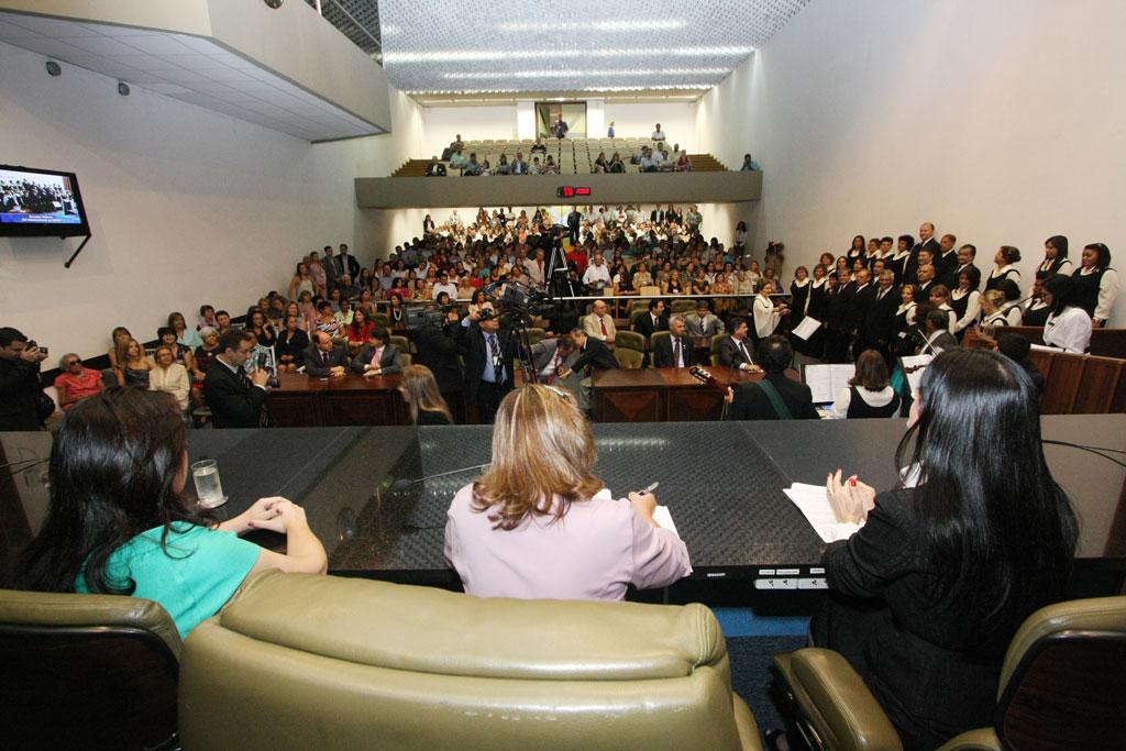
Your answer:
[[[912,749],[990,725],[1021,622],[1062,600],[1075,515],[1044,458],[1036,387],[995,352],[928,366],[896,462],[876,491],[830,475],[838,519],[864,522],[825,551],[830,598],[816,646],[840,652]]]

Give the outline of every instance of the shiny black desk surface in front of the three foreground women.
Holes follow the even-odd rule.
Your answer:
[[[821,556],[821,540],[783,489],[820,484],[837,467],[877,489],[893,486],[904,427],[900,420],[596,424],[597,474],[617,497],[661,483],[656,495],[688,544],[696,578],[757,576],[760,566],[815,566]],[[1121,414],[1046,417],[1044,432],[1126,449]],[[42,456],[50,436],[0,433],[0,441],[9,457],[14,449]],[[445,512],[480,471],[406,488],[393,482],[488,462],[491,428],[197,430],[189,450],[193,462],[217,459],[231,498],[224,516],[259,497],[286,495],[305,507],[333,571],[449,584],[456,578],[443,556]],[[1124,470],[1069,447],[1046,453],[1079,511],[1080,557],[1121,562]],[[253,539],[283,544],[270,533]]]

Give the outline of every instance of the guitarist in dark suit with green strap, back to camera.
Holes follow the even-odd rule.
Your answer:
[[[759,365],[767,375],[757,383],[727,388],[729,420],[816,420],[813,392],[804,383],[786,377],[794,349],[785,337],[759,342]]]

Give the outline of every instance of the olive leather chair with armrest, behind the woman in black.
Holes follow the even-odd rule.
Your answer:
[[[831,650],[775,658],[779,688],[813,748],[900,751],[864,680]],[[1009,644],[992,727],[941,751],[1126,749],[1126,597],[1074,600],[1030,615]]]

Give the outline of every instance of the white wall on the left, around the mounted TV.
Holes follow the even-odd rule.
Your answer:
[[[396,133],[312,145],[292,136],[0,44],[5,162],[78,173],[93,239],[0,239],[0,325],[52,354],[104,352],[109,331],[151,339],[171,310],[245,311],[296,259],[348,242],[374,258],[378,224],[352,179],[388,175],[419,144],[413,100],[392,91]],[[369,254],[369,256],[368,256]]]

